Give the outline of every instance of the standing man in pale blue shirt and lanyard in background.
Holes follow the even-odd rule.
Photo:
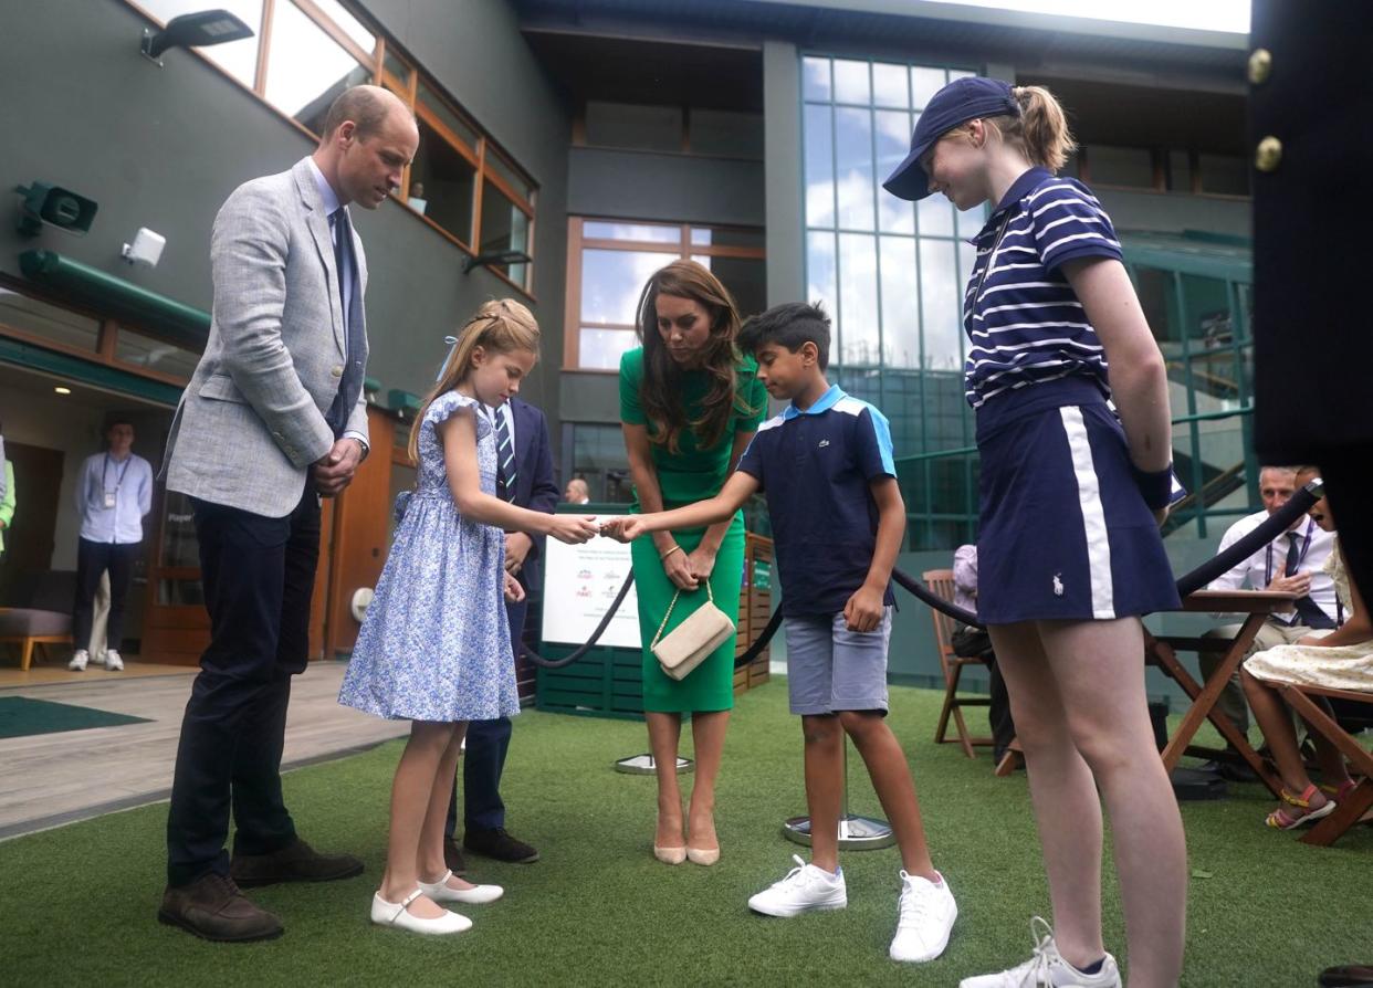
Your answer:
[[[100,576],[107,569],[110,618],[104,667],[113,672],[124,668],[119,657],[124,602],[143,543],[143,516],[152,508],[152,467],[132,451],[133,425],[115,419],[106,439],[110,449],[88,457],[77,476],[81,541],[77,545],[77,594],[71,618],[76,652],[67,664],[74,672],[84,671],[91,661],[92,608]]]

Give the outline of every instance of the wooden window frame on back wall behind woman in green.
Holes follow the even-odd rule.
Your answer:
[[[584,233],[586,222],[608,224],[638,224],[645,226],[676,226],[678,237],[673,240],[614,240],[608,237],[588,237]],[[766,247],[740,247],[733,244],[695,244],[691,242],[693,229],[747,229],[761,231],[759,226],[732,226],[726,224],[703,222],[671,222],[665,220],[626,220],[623,217],[567,217],[567,292],[563,311],[563,370],[577,370],[579,373],[619,373],[611,368],[589,368],[581,365],[581,338],[582,329],[619,329],[634,332],[638,327],[622,322],[597,322],[582,320],[582,251],[584,250],[611,250],[623,252],[654,252],[665,255],[663,263],[670,259],[686,261],[695,257],[728,257],[746,261],[766,261]]]

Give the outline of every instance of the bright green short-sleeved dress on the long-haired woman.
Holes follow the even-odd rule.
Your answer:
[[[697,419],[702,414],[702,401],[710,391],[710,377],[704,370],[691,370],[682,379],[686,417]],[[763,420],[768,412],[768,391],[758,380],[758,364],[751,357],[746,357],[739,365],[737,379],[735,413],[725,435],[715,446],[700,449],[689,428],[682,430],[676,456],[669,453],[666,446],[652,445],[654,469],[658,473],[665,508],[680,508],[719,494],[729,473],[729,454],[735,436],[757,431]],[[643,380],[644,351],[630,350],[619,361],[619,417],[629,425],[647,425],[652,432],[654,427],[648,423],[638,399]],[[637,493],[634,510],[638,510]],[[700,545],[704,534],[704,528],[686,528],[674,531],[673,537],[684,552],[691,552]],[[677,587],[663,572],[662,560],[658,558],[658,549],[651,538],[636,539],[632,554],[634,589],[638,594],[638,630],[644,642],[644,709],[667,714],[730,709],[735,705],[735,635],[730,635],[681,682],[663,675],[649,646]],[[719,545],[715,568],[710,575],[715,607],[736,624],[743,574],[744,516],[739,512],[729,523],[729,531]],[[702,590],[684,591],[673,608],[671,620],[667,622],[663,634],[677,627],[704,600],[706,594]]]

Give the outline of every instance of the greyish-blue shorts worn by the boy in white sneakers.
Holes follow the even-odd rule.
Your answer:
[[[791,712],[887,711],[891,607],[875,631],[850,631],[842,613],[787,619],[787,693]]]

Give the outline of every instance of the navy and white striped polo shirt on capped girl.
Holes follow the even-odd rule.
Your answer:
[[[1074,376],[1109,399],[1105,350],[1061,268],[1074,258],[1120,259],[1111,218],[1087,187],[1030,169],[973,244],[962,306],[968,402],[979,409],[1000,394]]]

